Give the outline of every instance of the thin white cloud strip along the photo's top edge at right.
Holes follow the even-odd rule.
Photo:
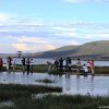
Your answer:
[[[65,0],[65,2],[71,2],[71,3],[82,3],[82,2],[109,2],[109,0]]]

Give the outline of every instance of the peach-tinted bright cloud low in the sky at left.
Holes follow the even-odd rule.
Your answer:
[[[53,45],[50,45],[46,39],[35,37],[35,36],[32,36],[32,37],[7,36],[2,39],[7,41],[5,46],[11,45],[11,48],[14,48],[15,52],[17,50],[21,50],[24,52],[36,52],[36,51],[51,50],[56,48]],[[4,43],[2,43],[2,45]]]

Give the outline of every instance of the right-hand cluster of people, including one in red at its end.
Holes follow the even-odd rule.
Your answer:
[[[64,61],[64,62],[63,62]],[[63,65],[64,63],[64,65]],[[95,63],[94,60],[88,60],[87,62],[83,63],[81,62],[80,58],[76,60],[75,64],[72,64],[72,59],[70,57],[68,58],[60,58],[56,59],[53,63],[47,61],[48,64],[48,72],[51,72],[52,66],[55,68],[55,71],[57,72],[72,72],[72,66],[76,66],[76,73],[81,73],[83,71],[84,75],[87,75],[88,72],[92,72],[92,74],[95,74]]]

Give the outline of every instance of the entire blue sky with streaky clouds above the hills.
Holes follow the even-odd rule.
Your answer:
[[[0,0],[0,53],[109,40],[109,0]]]

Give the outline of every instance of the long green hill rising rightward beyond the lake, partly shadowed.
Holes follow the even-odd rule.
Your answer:
[[[109,40],[87,43],[81,46],[65,46],[34,55],[37,58],[72,57],[83,59],[109,59]]]

